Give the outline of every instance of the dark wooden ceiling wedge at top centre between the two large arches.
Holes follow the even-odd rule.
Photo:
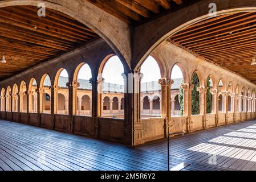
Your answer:
[[[129,24],[140,24],[156,15],[176,10],[194,0],[87,0]]]

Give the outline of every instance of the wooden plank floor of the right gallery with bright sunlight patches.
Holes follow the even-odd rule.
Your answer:
[[[141,150],[167,154],[166,141]],[[231,170],[256,171],[256,121],[235,123],[170,140],[173,157]]]

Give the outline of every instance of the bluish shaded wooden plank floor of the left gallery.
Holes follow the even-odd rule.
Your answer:
[[[164,171],[166,154],[0,120],[0,171]],[[224,170],[173,156],[170,167]]]

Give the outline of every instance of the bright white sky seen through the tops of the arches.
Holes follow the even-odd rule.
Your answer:
[[[124,85],[124,79],[121,74],[124,72],[123,64],[121,63],[118,56],[112,56],[104,66],[102,77],[105,79],[105,82],[112,84]],[[158,81],[161,78],[159,65],[156,60],[149,56],[141,65],[141,73],[143,73],[143,79],[141,82],[150,82]],[[60,76],[68,77],[66,69],[64,69]],[[172,70],[171,78],[182,78],[181,69],[174,65]],[[90,80],[91,78],[91,69],[88,64],[83,65],[78,73],[79,79]]]

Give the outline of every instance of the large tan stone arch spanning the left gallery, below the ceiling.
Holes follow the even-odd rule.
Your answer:
[[[38,6],[38,3],[45,3],[46,15],[47,8],[53,9],[90,27],[109,44],[121,61],[126,61],[128,65],[131,65],[131,27],[86,0],[6,0],[0,2],[0,8],[7,6]]]

